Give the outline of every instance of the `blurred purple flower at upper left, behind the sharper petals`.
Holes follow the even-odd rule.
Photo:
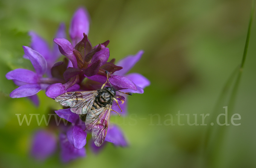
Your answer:
[[[48,77],[51,77],[51,68],[54,65],[54,63],[58,60],[58,58],[61,56],[61,53],[58,49],[58,45],[54,44],[53,48],[51,49],[48,43],[34,31],[30,31],[29,35],[31,37],[30,47],[33,50],[40,53],[45,58],[48,67],[46,73]],[[64,23],[60,24],[58,31],[55,34],[55,38],[66,38]],[[24,55],[23,57],[29,59],[27,55]]]

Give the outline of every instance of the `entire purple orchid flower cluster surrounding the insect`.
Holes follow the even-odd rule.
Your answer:
[[[107,46],[109,41],[94,47],[91,45],[87,38],[89,20],[87,11],[83,8],[78,9],[69,29],[72,43],[66,39],[65,26],[61,24],[56,38],[53,40],[55,45],[52,49],[35,32],[29,32],[32,43],[31,48],[23,46],[24,58],[31,61],[35,71],[20,68],[6,74],[7,79],[13,80],[19,86],[12,91],[10,97],[29,97],[38,105],[36,94],[44,89],[46,95],[53,99],[70,91],[97,90],[107,80],[105,71],[110,73],[109,82],[116,90],[142,94],[143,89],[150,85],[150,82],[141,74],[127,74],[127,72],[140,60],[143,51],[127,56],[116,64],[114,64],[114,59],[108,62],[110,52]],[[57,62],[61,54],[66,58],[64,61]],[[122,97],[122,100],[126,99],[126,101],[120,106],[123,110],[122,114],[126,114],[127,97],[125,94]],[[121,103],[120,101],[119,104]],[[113,103],[112,108],[116,111],[119,110],[116,103]],[[90,133],[84,131],[86,129],[84,122],[81,121],[78,114],[71,112],[70,109],[60,109],[55,113],[70,122],[69,126],[59,129],[59,136],[55,135],[52,130],[36,132],[32,141],[32,155],[36,159],[44,160],[56,151],[57,142],[59,142],[63,162],[84,157],[86,155],[84,145],[87,143],[87,134]],[[128,145],[117,125],[109,125],[102,146],[96,147],[94,143],[91,143],[90,146],[97,153],[107,143],[106,141],[116,146]]]

